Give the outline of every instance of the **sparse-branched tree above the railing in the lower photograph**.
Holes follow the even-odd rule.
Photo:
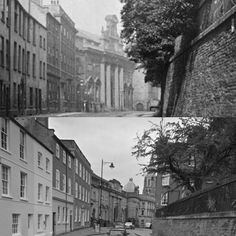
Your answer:
[[[144,172],[169,173],[191,192],[204,181],[220,182],[236,171],[236,119],[180,118],[153,124],[138,137],[133,155],[150,158]]]

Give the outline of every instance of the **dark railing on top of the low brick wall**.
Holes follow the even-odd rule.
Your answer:
[[[236,179],[192,194],[156,211],[156,217],[236,210]]]

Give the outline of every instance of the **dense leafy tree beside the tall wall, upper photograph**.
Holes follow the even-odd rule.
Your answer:
[[[174,40],[196,29],[196,0],[120,0],[121,37],[129,58],[146,69],[146,82],[161,85],[163,101]]]

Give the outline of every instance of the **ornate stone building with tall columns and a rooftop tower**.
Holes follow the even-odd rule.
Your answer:
[[[134,64],[123,52],[118,19],[106,18],[101,35],[76,35],[77,104],[80,111],[132,110]]]

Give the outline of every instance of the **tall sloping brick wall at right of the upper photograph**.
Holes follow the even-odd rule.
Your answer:
[[[236,115],[236,7],[173,57],[164,116]]]

